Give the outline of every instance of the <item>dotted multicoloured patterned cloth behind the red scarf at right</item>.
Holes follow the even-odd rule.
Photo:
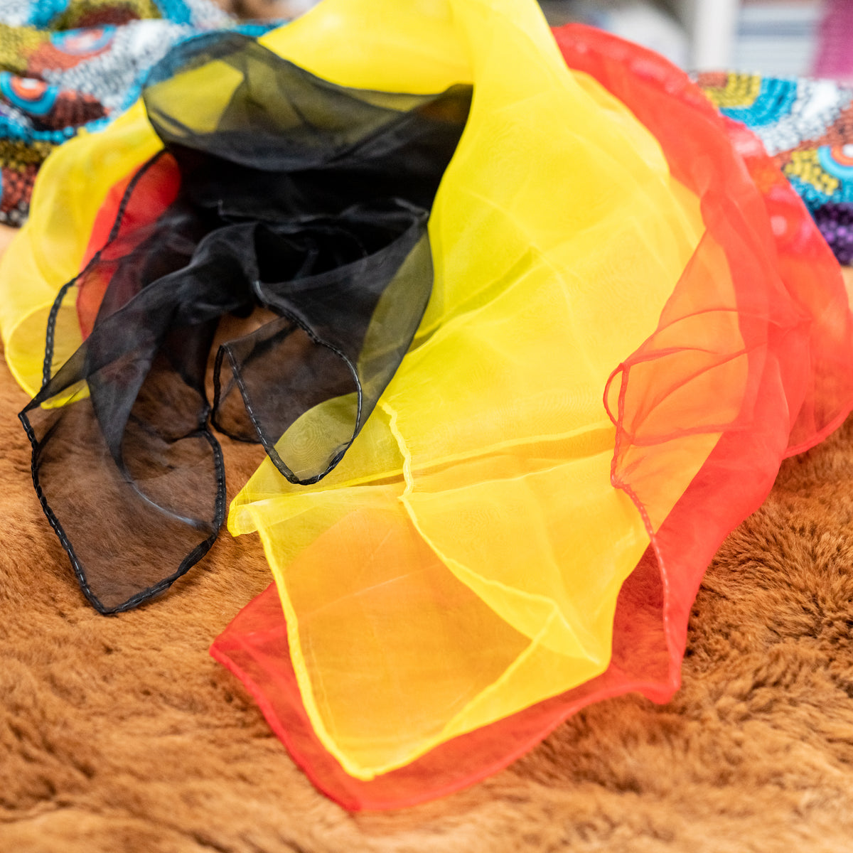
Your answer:
[[[853,88],[738,73],[700,74],[698,82],[723,115],[761,139],[835,256],[853,264]]]

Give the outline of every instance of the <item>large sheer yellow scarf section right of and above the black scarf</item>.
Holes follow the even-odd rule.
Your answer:
[[[535,3],[324,0],[263,40],[339,84],[474,84],[430,221],[433,296],[380,410],[327,479],[264,463],[229,517],[263,539],[318,736],[369,779],[606,668],[648,537],[610,484],[602,395],[703,225]],[[673,467],[673,503],[716,440]]]

